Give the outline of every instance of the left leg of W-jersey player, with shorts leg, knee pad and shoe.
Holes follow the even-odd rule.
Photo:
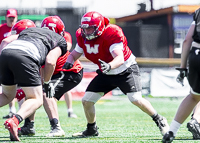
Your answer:
[[[97,72],[98,75],[88,85],[85,95],[82,98],[82,104],[87,119],[87,128],[85,131],[73,134],[73,137],[98,136],[98,127],[96,125],[96,111],[94,104],[107,92],[115,88],[110,84],[109,76]]]

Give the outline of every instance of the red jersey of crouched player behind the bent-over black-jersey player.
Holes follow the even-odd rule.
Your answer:
[[[70,33],[65,32],[64,38],[67,42],[72,43],[72,37],[71,37]],[[54,75],[59,73],[60,71],[72,71],[72,72],[78,73],[83,68],[83,66],[81,65],[81,62],[79,60],[77,60],[74,62],[74,66],[71,69],[69,69],[69,70],[62,69],[69,54],[70,54],[70,52],[68,51],[66,54],[64,54],[63,56],[58,58],[56,67],[55,67],[55,70],[53,73]]]

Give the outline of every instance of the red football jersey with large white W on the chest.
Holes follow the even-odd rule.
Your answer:
[[[127,46],[127,39],[124,36],[122,29],[117,25],[107,25],[103,34],[93,40],[85,40],[81,36],[81,28],[79,28],[76,31],[76,38],[79,47],[81,47],[84,51],[85,57],[97,64],[99,68],[100,62],[98,59],[101,59],[107,63],[113,60],[113,57],[109,51],[109,48],[112,44],[120,42],[123,43],[124,61],[126,61],[132,54],[132,51]]]

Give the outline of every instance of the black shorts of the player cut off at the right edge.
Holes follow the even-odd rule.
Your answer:
[[[200,48],[192,47],[189,54],[189,74],[188,81],[194,92],[200,93],[200,53],[196,54]]]

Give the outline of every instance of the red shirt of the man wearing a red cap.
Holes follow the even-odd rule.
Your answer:
[[[11,35],[12,27],[8,27],[6,23],[0,25],[0,43],[3,39]]]

